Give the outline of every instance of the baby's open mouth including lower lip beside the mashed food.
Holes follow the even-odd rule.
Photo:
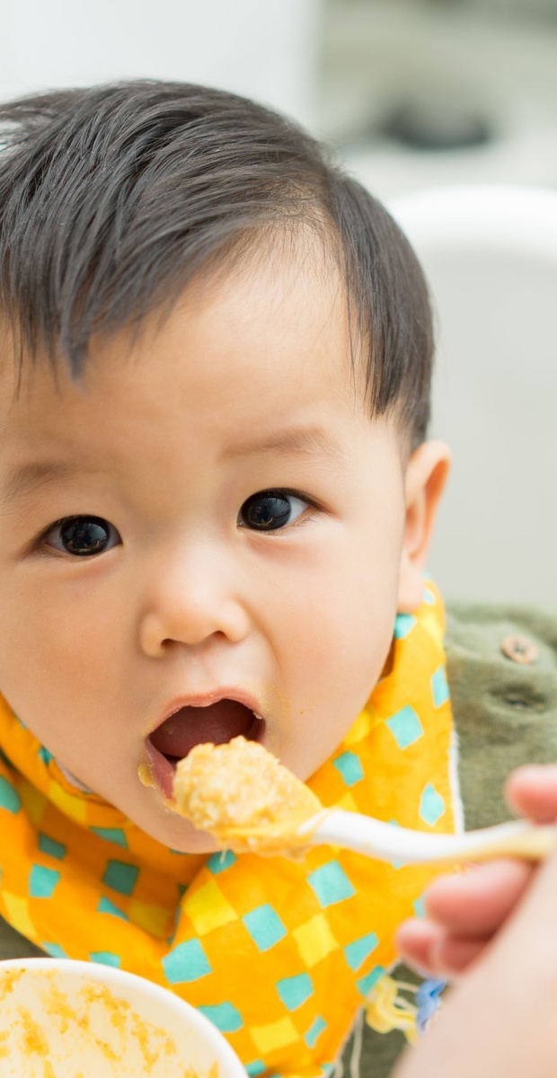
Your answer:
[[[205,742],[223,745],[240,734],[247,741],[260,741],[264,729],[264,720],[237,700],[218,700],[205,707],[180,707],[147,738],[151,776],[170,799],[176,764],[194,745]]]

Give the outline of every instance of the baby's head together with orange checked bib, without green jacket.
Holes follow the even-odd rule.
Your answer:
[[[0,122],[0,914],[169,986],[252,1076],[326,1074],[431,873],[219,853],[168,802],[241,734],[325,805],[459,825],[420,268],[242,98]]]

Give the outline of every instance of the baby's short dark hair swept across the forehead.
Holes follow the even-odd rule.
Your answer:
[[[413,445],[429,419],[432,328],[417,259],[329,151],[234,94],[138,81],[0,106],[0,305],[22,356],[83,371],[90,338],[173,304],[211,262],[309,225],[346,285],[372,414]]]

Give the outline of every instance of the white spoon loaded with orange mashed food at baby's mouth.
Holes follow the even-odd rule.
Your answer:
[[[428,834],[323,808],[263,745],[241,736],[223,745],[196,745],[177,766],[173,792],[175,812],[236,853],[288,857],[331,845],[395,865],[502,856],[537,861],[557,841],[557,826],[537,827],[525,819],[460,834]]]

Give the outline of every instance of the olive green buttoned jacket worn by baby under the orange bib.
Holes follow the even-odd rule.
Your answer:
[[[471,830],[509,818],[502,787],[514,768],[557,760],[557,616],[452,605],[446,648]],[[41,952],[0,918],[0,958],[31,954]],[[407,970],[401,979],[415,980]],[[362,1024],[345,1048],[346,1078],[387,1078],[404,1044],[399,1033],[379,1035]]]

